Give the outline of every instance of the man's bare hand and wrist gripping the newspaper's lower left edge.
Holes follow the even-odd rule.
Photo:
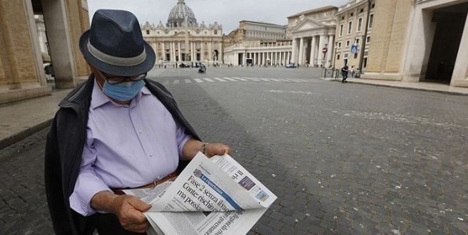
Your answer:
[[[132,195],[117,196],[107,191],[98,192],[91,199],[91,207],[115,214],[123,228],[128,231],[144,233],[150,228],[142,212],[148,211],[151,205]]]

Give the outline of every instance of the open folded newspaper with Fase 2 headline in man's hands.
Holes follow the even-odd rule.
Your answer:
[[[175,181],[124,192],[152,205],[147,234],[247,234],[277,199],[229,155],[201,152]]]

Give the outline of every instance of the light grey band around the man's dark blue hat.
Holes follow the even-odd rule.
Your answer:
[[[143,61],[146,60],[145,48],[143,48],[143,52],[140,55],[127,58],[127,57],[111,56],[106,53],[103,53],[102,51],[99,51],[98,48],[95,48],[93,45],[91,45],[90,41],[88,41],[87,46],[91,55],[96,57],[99,61],[111,64],[113,66],[136,66],[140,63],[143,63]]]

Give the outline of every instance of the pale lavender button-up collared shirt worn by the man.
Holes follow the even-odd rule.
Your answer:
[[[148,88],[143,87],[130,105],[118,105],[96,82],[86,135],[70,196],[71,209],[83,216],[96,213],[91,198],[98,192],[140,187],[174,172],[190,139]]]

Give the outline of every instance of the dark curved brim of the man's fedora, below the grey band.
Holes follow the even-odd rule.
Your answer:
[[[122,76],[133,76],[139,75],[142,73],[146,73],[154,67],[154,63],[156,62],[156,54],[154,53],[153,48],[145,42],[145,51],[146,51],[146,59],[142,63],[139,63],[136,66],[114,66],[109,63],[105,63],[100,61],[98,58],[94,57],[88,51],[88,38],[89,38],[89,30],[84,32],[80,38],[80,51],[83,53],[84,58],[91,66],[94,66],[100,71],[104,73],[109,73],[112,75],[122,75]]]

